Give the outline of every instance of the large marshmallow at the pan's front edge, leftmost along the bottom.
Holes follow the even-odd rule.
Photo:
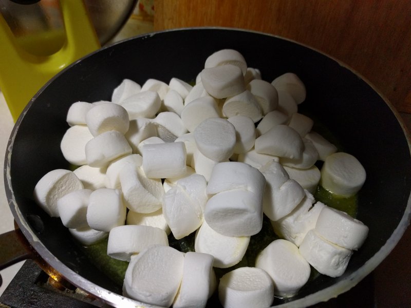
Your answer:
[[[169,246],[152,245],[131,257],[125,272],[123,295],[170,307],[183,276],[184,254]]]

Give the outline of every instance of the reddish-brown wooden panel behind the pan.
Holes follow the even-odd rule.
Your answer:
[[[411,113],[410,0],[154,0],[154,29],[222,26],[290,38],[346,63]]]

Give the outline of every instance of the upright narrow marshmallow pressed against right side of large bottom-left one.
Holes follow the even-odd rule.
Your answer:
[[[216,284],[213,261],[214,257],[209,254],[185,254],[183,276],[173,308],[206,307]]]

